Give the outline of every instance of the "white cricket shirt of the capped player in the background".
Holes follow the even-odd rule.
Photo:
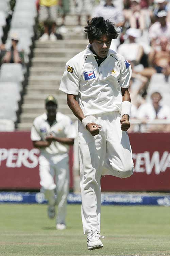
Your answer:
[[[76,138],[77,131],[75,130],[74,125],[72,124],[71,119],[57,112],[56,114],[56,122],[53,125],[49,125],[47,121],[47,114],[44,113],[35,118],[33,122],[33,126],[31,128],[31,140],[39,141],[44,140],[46,136],[53,134],[54,137],[59,138]],[[41,155],[48,157],[52,154],[65,154],[68,153],[69,145],[53,141],[49,147],[40,148]]]

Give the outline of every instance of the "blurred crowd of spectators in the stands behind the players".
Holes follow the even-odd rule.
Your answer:
[[[123,55],[132,67],[130,131],[170,131],[166,124],[170,122],[169,0],[35,0],[35,3],[41,26],[41,33],[37,33],[39,41],[64,38],[69,31],[66,19],[70,14],[77,16],[74,33],[83,30],[83,16],[86,19],[102,16],[113,22],[119,36],[112,40],[111,49]],[[19,45],[19,34],[11,32],[8,43],[0,44],[0,64],[24,65],[26,52]],[[155,119],[162,123],[144,125]]]

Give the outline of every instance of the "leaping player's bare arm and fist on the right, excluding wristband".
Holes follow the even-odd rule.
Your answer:
[[[122,91],[122,102],[123,101],[131,102],[131,97],[130,97],[128,88],[121,88],[121,91]],[[130,127],[129,115],[124,114],[120,119],[120,124],[121,124],[121,130],[127,131]]]

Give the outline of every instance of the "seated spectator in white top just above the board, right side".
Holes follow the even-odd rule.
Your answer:
[[[159,92],[151,94],[151,103],[142,104],[137,110],[137,118],[142,120],[143,123],[147,124],[147,121],[154,119],[164,119],[170,121],[170,108],[166,105],[161,105],[162,95]],[[166,124],[155,124],[146,125],[143,131],[170,131],[170,125]]]

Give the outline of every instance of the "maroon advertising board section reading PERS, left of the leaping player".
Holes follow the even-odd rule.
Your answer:
[[[33,148],[30,132],[0,132],[0,190],[37,190],[39,149]],[[70,150],[70,188],[73,149]]]

